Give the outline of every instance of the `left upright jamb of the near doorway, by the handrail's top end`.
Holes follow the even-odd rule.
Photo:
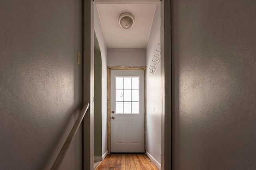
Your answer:
[[[83,0],[83,105],[89,109],[82,123],[82,169],[93,170],[94,164],[94,27],[93,0]]]

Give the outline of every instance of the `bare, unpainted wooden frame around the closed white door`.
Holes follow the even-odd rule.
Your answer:
[[[107,133],[108,133],[108,154],[110,154],[110,71],[111,70],[144,70],[144,76],[145,76],[145,83],[144,83],[144,109],[145,109],[145,117],[144,117],[144,140],[145,140],[145,148],[144,152],[146,151],[146,67],[145,66],[140,66],[140,67],[134,67],[134,66],[109,66],[108,67],[108,85],[107,85],[107,105],[108,105],[108,123],[107,123]]]

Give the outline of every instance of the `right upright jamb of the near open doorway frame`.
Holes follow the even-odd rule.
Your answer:
[[[172,169],[172,46],[171,0],[161,2],[161,169]]]

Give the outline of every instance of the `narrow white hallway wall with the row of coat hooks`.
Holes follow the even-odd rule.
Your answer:
[[[160,51],[160,5],[156,5],[156,11],[152,22],[152,28],[146,49],[146,92],[147,92],[147,115],[146,115],[146,151],[154,158],[159,168],[161,164],[161,62],[158,63],[154,74],[150,73],[150,65],[154,65]]]

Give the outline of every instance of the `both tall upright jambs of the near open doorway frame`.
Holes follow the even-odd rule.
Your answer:
[[[120,0],[122,1],[122,0]],[[143,2],[143,0],[142,0]],[[83,123],[83,168],[93,169],[93,0],[83,0],[84,11],[84,81],[83,103],[90,101],[90,112]],[[161,169],[172,169],[172,55],[171,55],[171,0],[161,0]],[[86,118],[85,118],[86,119]]]

